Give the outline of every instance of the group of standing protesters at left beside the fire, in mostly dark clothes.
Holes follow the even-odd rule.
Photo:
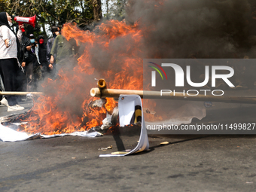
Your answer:
[[[53,37],[45,41],[43,35],[28,36],[22,32],[23,25],[17,32],[11,29],[11,16],[0,13],[0,75],[1,90],[38,91],[44,78],[57,78],[62,62],[72,56],[74,47],[61,35],[58,26],[52,27]],[[5,95],[2,105],[8,111],[24,108],[18,105],[26,96]]]

